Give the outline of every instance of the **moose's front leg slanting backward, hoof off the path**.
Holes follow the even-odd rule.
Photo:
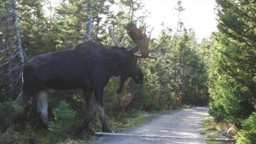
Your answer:
[[[81,133],[85,128],[88,128],[88,125],[89,125],[90,121],[92,120],[92,117],[97,112],[97,104],[96,104],[96,100],[94,98],[93,92],[84,90],[84,95],[86,97],[86,102],[87,102],[86,109],[85,109],[85,115],[84,115],[84,121],[77,128],[77,130],[76,130],[77,134]]]

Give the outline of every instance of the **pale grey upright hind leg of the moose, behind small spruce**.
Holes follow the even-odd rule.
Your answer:
[[[45,90],[40,91],[37,95],[37,113],[48,127],[48,93]]]

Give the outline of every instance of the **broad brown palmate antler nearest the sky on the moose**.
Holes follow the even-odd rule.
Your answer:
[[[136,53],[135,56],[139,58],[158,58],[161,56],[161,53],[157,54],[156,56],[151,56],[151,53],[159,48],[159,46],[164,42],[164,39],[156,47],[152,48],[151,50],[148,49],[152,30],[150,31],[149,37],[147,37],[146,28],[144,32],[142,32],[141,28],[130,28],[128,35],[130,38],[132,38],[132,41],[140,48],[140,52]]]

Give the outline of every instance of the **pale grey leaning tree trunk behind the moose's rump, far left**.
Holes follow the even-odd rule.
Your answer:
[[[21,66],[21,70],[22,70],[23,66],[24,66],[24,54],[23,54],[23,49],[21,46],[20,28],[19,28],[19,23],[18,23],[16,1],[11,0],[11,2],[12,2],[12,9],[13,9],[12,14],[13,14],[13,18],[14,18],[14,29],[16,32],[17,50],[18,50],[18,56],[20,58],[20,66]]]

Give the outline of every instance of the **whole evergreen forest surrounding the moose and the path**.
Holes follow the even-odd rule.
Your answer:
[[[140,0],[0,0],[0,130],[13,110],[14,124],[0,133],[1,144],[82,143],[101,130],[100,114],[90,128],[76,135],[86,99],[82,90],[50,93],[49,126],[36,112],[36,102],[22,109],[14,103],[22,86],[24,64],[33,56],[74,48],[85,41],[115,46],[108,33],[114,28],[124,45],[132,44],[127,30],[145,23],[148,13]],[[116,5],[118,11],[112,10]],[[182,2],[173,6],[186,11]],[[47,11],[47,13],[46,13]],[[119,77],[111,77],[104,89],[104,109],[109,127],[120,130],[148,113],[207,106],[217,123],[234,126],[238,144],[256,142],[256,5],[254,0],[216,0],[218,30],[198,42],[195,30],[178,18],[176,29],[162,24],[150,47],[160,48],[159,58],[138,60],[143,84],[128,79],[122,92]]]

